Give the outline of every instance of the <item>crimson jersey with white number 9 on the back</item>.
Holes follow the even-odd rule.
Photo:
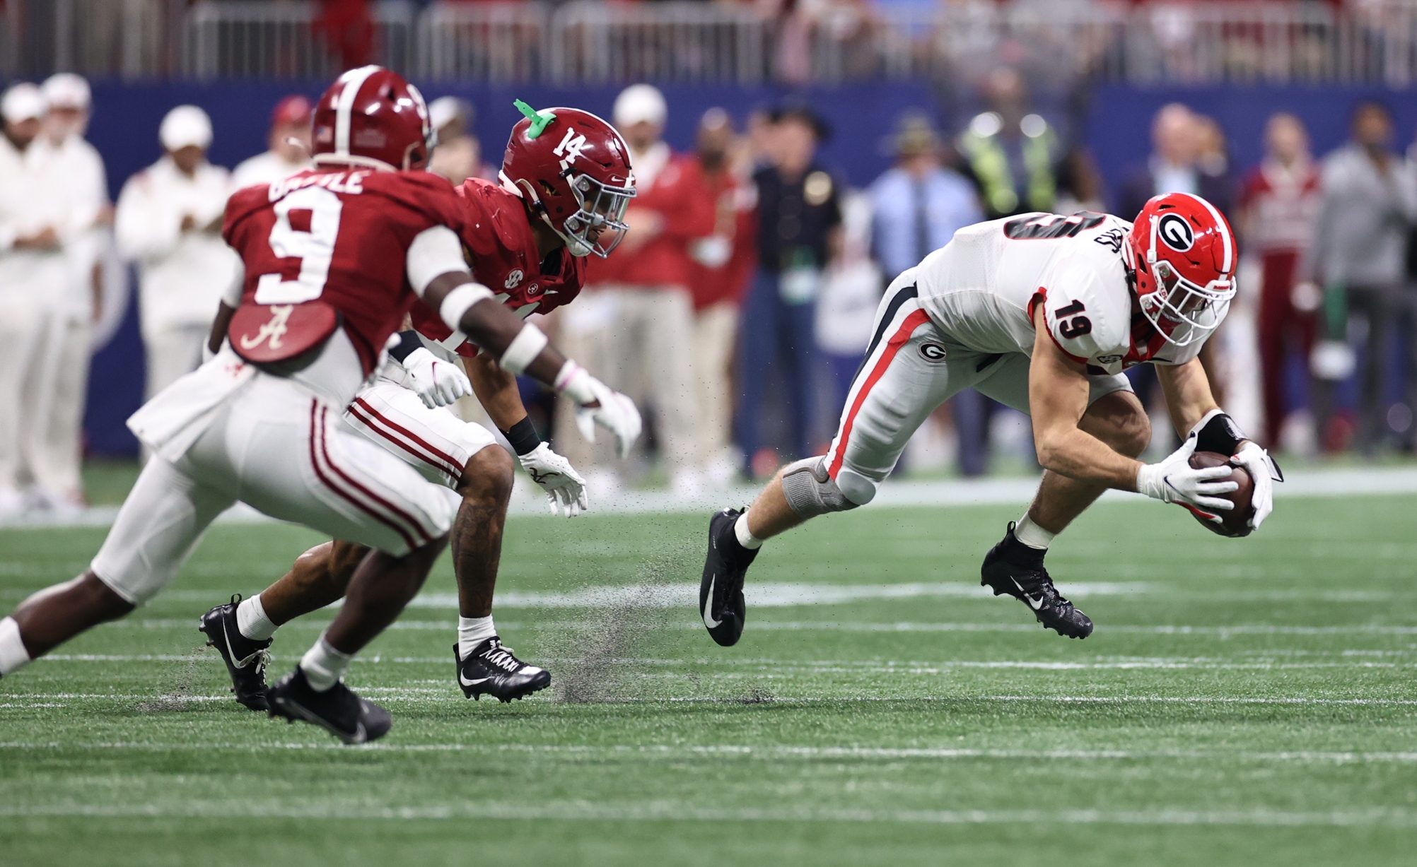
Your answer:
[[[221,234],[245,264],[242,306],[334,307],[368,375],[404,316],[427,309],[408,285],[410,245],[438,225],[463,235],[462,212],[436,174],[312,169],[232,196]]]

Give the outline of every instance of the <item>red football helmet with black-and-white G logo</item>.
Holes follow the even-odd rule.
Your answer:
[[[1142,313],[1169,343],[1187,346],[1214,332],[1236,296],[1236,235],[1199,196],[1152,197],[1124,246]]]

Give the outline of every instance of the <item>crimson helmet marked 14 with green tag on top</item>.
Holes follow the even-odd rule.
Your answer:
[[[517,108],[526,118],[507,139],[502,186],[530,203],[572,256],[608,256],[629,228],[625,208],[635,197],[625,139],[589,112]]]

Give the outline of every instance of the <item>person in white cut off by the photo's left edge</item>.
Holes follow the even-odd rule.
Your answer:
[[[24,509],[21,473],[33,479],[47,388],[40,348],[69,273],[67,198],[40,142],[45,108],[33,84],[0,98],[0,517]]]

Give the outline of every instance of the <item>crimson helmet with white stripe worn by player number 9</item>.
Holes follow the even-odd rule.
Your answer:
[[[422,169],[432,150],[424,95],[391,69],[350,69],[315,105],[310,150],[316,163]]]

